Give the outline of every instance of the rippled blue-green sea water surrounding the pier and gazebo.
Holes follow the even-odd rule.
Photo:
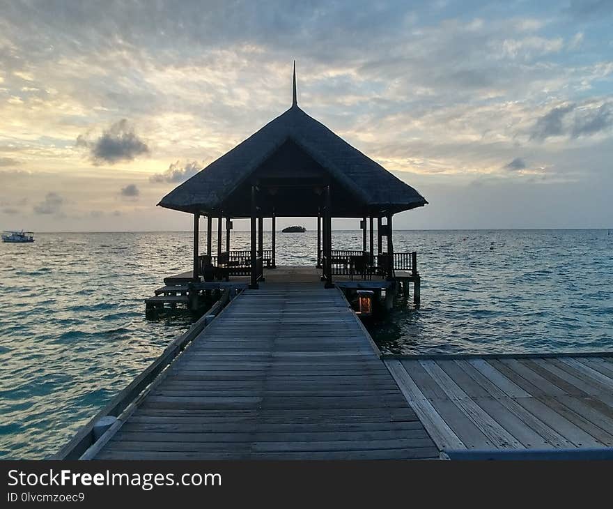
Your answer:
[[[335,248],[360,245],[334,232]],[[399,299],[371,325],[383,351],[613,349],[607,230],[398,231],[394,248],[419,252],[422,307]],[[277,235],[278,264],[315,250],[313,232]],[[191,234],[38,234],[0,256],[0,457],[45,457],[189,326],[146,320],[142,299],[189,269]]]

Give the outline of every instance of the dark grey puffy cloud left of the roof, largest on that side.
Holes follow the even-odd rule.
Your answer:
[[[114,123],[95,142],[89,141],[85,135],[79,135],[76,145],[90,151],[95,165],[130,161],[149,152],[147,144],[139,138],[126,119]]]

